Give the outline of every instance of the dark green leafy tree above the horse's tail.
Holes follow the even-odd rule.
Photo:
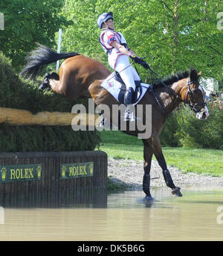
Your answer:
[[[4,14],[0,50],[12,59],[17,70],[24,66],[25,56],[36,47],[36,42],[53,47],[55,32],[61,25],[71,24],[59,15],[63,3],[63,0],[0,1],[0,11]]]

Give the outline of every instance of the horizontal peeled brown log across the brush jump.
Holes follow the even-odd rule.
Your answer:
[[[100,115],[92,113],[67,113],[43,111],[36,114],[29,110],[19,110],[10,107],[0,107],[0,124],[7,125],[71,125],[75,118],[76,125],[100,125]],[[74,124],[74,123],[73,123]]]

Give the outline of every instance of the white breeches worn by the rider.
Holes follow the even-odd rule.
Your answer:
[[[115,65],[115,70],[119,72],[120,77],[123,79],[123,82],[126,84],[126,89],[132,87],[135,90],[135,81],[140,81],[138,72],[134,67],[129,63],[129,56],[120,55],[117,57],[117,62]]]

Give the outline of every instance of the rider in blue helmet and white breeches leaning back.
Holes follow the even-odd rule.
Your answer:
[[[142,59],[132,52],[127,44],[126,39],[120,32],[114,31],[113,13],[103,13],[97,18],[97,25],[103,31],[100,34],[100,44],[106,51],[109,59],[109,66],[119,72],[120,77],[126,84],[126,93],[124,96],[124,104],[133,103],[135,82],[140,84],[138,72],[129,63],[129,57],[140,63]],[[129,119],[129,112],[126,113],[126,119]]]

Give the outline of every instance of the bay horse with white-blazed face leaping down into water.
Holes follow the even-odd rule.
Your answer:
[[[97,60],[92,60],[82,54],[75,52],[59,54],[46,46],[39,45],[38,49],[28,55],[27,66],[25,66],[25,69],[20,74],[34,78],[43,65],[61,59],[65,60],[60,66],[59,75],[55,72],[47,73],[40,86],[41,89],[49,87],[54,92],[73,100],[80,96],[86,96],[94,99],[97,105],[108,105],[110,110],[112,105],[120,104],[106,89],[101,87],[103,81],[111,74],[109,69],[106,69],[106,66],[103,66]],[[182,196],[181,188],[175,186],[167,169],[159,135],[167,116],[181,102],[188,104],[198,119],[207,119],[209,113],[204,101],[204,90],[198,81],[200,76],[201,72],[198,73],[195,69],[190,69],[190,72],[186,71],[171,75],[166,80],[153,84],[152,91],[147,90],[138,103],[142,104],[143,107],[146,104],[152,105],[152,134],[151,137],[142,139],[144,159],[143,192],[146,194],[145,199],[149,202],[153,201],[150,193],[150,169],[153,154],[159,166],[161,166],[167,187],[172,189],[172,195]],[[110,118],[111,122],[113,122],[112,115]],[[143,115],[143,122],[145,119],[146,115]],[[137,129],[130,131],[128,128],[124,132],[133,136],[138,136],[139,133]]]

